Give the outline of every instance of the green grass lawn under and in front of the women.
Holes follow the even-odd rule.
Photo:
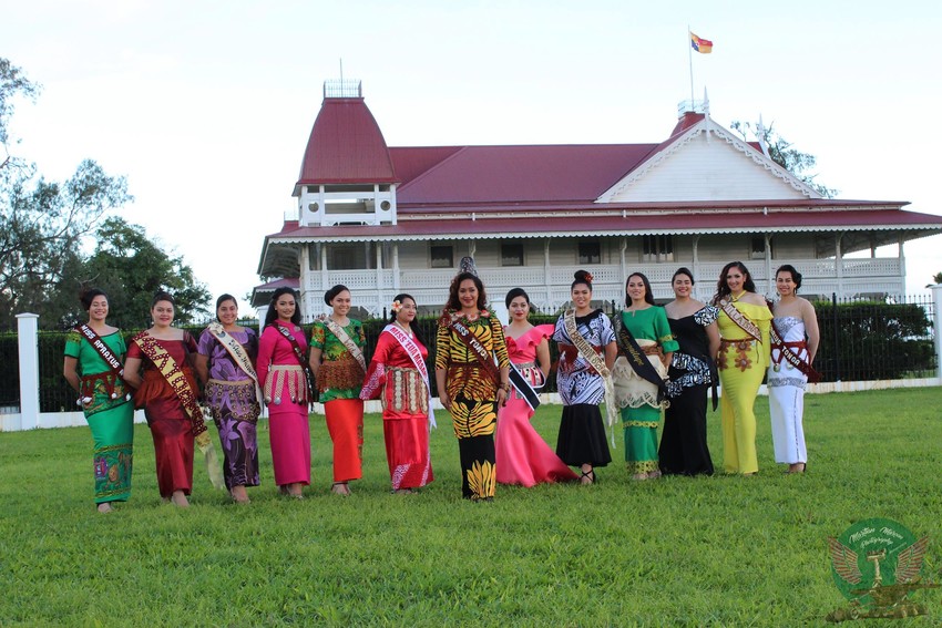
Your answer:
[[[759,398],[758,477],[636,483],[617,462],[620,439],[596,486],[499,486],[492,504],[460,498],[443,411],[436,481],[418,495],[389,494],[375,414],[364,480],[349,498],[331,495],[330,444],[314,416],[307,500],[277,495],[263,423],[253,503],[229,504],[197,460],[185,511],[161,503],[139,425],[133,495],[104,516],[86,429],[2,433],[0,626],[820,625],[846,604],[827,537],[858,519],[928,535],[924,574],[942,581],[940,401],[939,389],[808,395],[809,473],[797,476],[774,463]],[[560,412],[534,419],[553,445]],[[721,466],[718,413],[709,439]],[[893,626],[942,621],[942,589],[915,600],[930,616]]]

